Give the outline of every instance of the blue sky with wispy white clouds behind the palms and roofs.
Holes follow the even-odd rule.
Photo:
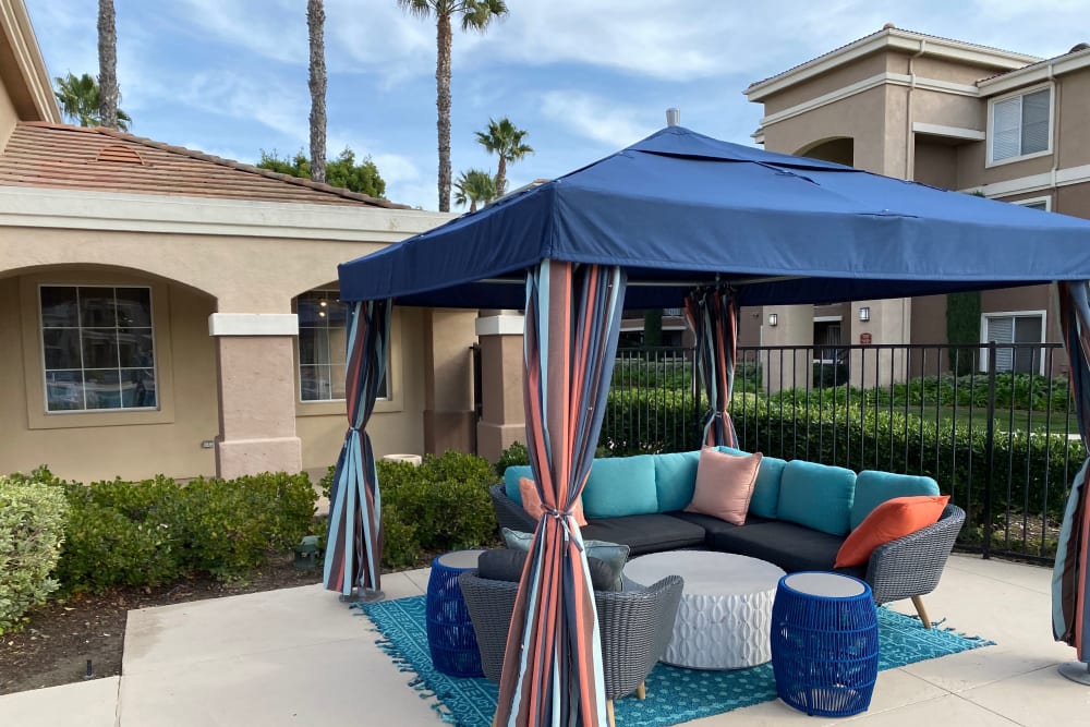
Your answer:
[[[96,0],[25,0],[50,76],[98,73]],[[1090,41],[1090,0],[507,0],[487,33],[456,25],[451,167],[495,171],[474,132],[508,117],[534,154],[508,189],[666,125],[752,145],[743,92],[893,23],[1047,58]],[[255,163],[310,154],[305,0],[114,0],[132,133]],[[386,196],[438,209],[435,21],[397,0],[326,0],[327,150],[370,156]],[[452,210],[459,210],[451,206]]]

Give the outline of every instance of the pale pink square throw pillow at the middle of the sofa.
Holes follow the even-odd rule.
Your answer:
[[[685,511],[710,514],[735,525],[744,524],[761,457],[761,452],[738,457],[711,447],[700,450],[697,487]]]

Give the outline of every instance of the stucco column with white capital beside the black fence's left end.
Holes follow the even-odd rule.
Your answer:
[[[525,444],[526,414],[522,398],[523,316],[496,312],[476,319],[481,342],[481,421],[477,455],[489,462],[516,440]]]

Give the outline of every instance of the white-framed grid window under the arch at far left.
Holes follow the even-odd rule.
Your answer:
[[[38,287],[46,411],[156,409],[152,289]]]

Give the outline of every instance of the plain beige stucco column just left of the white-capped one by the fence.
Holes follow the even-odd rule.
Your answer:
[[[476,311],[427,310],[424,323],[424,451],[474,451]]]

